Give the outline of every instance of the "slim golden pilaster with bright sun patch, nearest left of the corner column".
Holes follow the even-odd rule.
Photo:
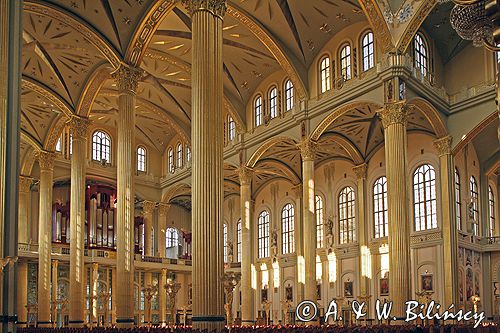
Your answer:
[[[353,168],[356,174],[357,185],[358,185],[358,215],[357,215],[357,226],[358,226],[358,242],[360,247],[360,286],[359,292],[360,296],[368,296],[368,289],[370,286],[371,277],[371,254],[368,250],[368,230],[366,230],[366,172],[368,166],[366,163],[357,165]]]

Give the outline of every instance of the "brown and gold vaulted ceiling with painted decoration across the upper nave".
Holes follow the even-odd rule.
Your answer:
[[[369,8],[400,8],[398,3],[403,1],[229,0],[223,25],[226,111],[244,128],[244,106],[257,86],[279,70],[295,81],[298,97],[306,98],[307,68],[323,46],[351,24],[384,20],[373,16],[380,11]],[[406,3],[415,7],[415,15],[423,4]],[[22,73],[30,84],[23,87],[21,122],[32,144],[53,148],[49,138],[72,113],[116,126],[110,73],[121,62],[144,70],[138,138],[159,152],[175,135],[189,140],[191,19],[178,2],[25,0],[23,20]],[[290,170],[300,174],[294,166]],[[260,177],[264,181],[265,175]]]

